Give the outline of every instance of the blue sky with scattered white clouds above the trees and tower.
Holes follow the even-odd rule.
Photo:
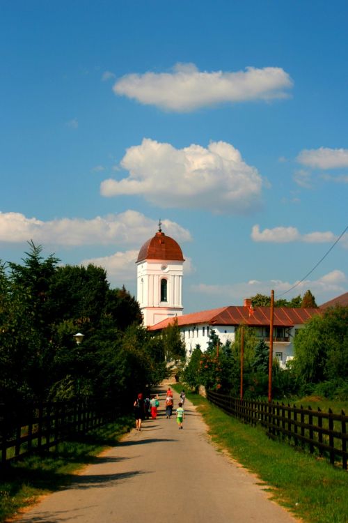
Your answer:
[[[348,290],[347,1],[0,1],[0,258],[33,239],[184,312]]]

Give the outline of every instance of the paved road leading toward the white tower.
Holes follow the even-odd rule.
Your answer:
[[[26,523],[294,523],[257,480],[209,444],[205,424],[186,401],[179,430],[166,419],[143,423],[68,488],[26,513]],[[177,406],[178,395],[174,393]]]

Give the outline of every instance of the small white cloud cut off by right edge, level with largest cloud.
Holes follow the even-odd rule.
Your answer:
[[[296,160],[313,169],[338,169],[348,167],[348,149],[303,149]]]

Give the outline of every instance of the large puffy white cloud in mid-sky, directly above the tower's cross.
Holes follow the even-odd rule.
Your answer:
[[[245,213],[260,204],[262,178],[235,147],[211,142],[207,149],[143,139],[127,149],[121,166],[128,178],[102,182],[103,196],[141,195],[162,208],[205,209],[214,213]]]

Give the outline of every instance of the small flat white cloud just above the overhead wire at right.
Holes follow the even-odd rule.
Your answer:
[[[300,234],[296,227],[274,227],[273,229],[260,231],[260,225],[253,225],[251,238],[253,241],[270,243],[290,243],[293,241],[301,241],[303,243],[333,243],[338,236],[331,231]],[[345,247],[348,246],[347,238],[347,234],[342,236],[341,243]]]

